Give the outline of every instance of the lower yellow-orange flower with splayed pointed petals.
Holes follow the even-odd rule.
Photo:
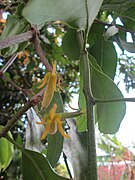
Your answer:
[[[37,124],[45,125],[45,130],[41,136],[41,140],[43,140],[47,136],[47,134],[55,134],[57,130],[61,133],[63,137],[69,138],[69,135],[64,132],[62,122],[60,120],[60,114],[56,114],[56,109],[57,104],[53,104],[52,109],[47,115],[43,117],[42,122],[37,122]]]

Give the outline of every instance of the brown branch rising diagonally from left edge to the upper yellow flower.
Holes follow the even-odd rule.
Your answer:
[[[44,89],[36,94],[31,100],[27,101],[25,105],[7,122],[4,128],[0,131],[0,138],[5,137],[8,131],[16,124],[21,116],[31,107],[36,106],[42,99]]]

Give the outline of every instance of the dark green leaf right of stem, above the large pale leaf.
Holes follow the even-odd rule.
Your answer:
[[[114,79],[117,65],[117,53],[113,43],[100,38],[89,52],[97,60],[103,72],[111,79]]]

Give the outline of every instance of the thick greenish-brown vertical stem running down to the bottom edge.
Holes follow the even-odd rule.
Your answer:
[[[78,31],[78,40],[81,49],[81,58],[84,69],[84,84],[83,91],[86,98],[87,110],[87,130],[88,130],[88,173],[87,180],[97,180],[97,163],[96,163],[96,145],[95,145],[95,124],[93,116],[93,107],[95,104],[91,91],[90,82],[90,66],[88,59],[88,52],[84,49],[84,38],[82,31]]]

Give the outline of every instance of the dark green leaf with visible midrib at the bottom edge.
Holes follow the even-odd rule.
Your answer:
[[[58,176],[51,168],[47,159],[40,153],[23,150],[22,151],[22,171],[24,180],[66,180],[67,178]]]

